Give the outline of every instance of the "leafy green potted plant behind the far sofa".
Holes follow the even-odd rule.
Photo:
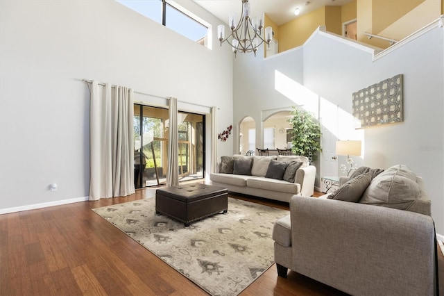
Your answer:
[[[293,106],[288,120],[292,128],[292,151],[295,155],[307,156],[309,161],[316,161],[317,152],[321,151],[321,124],[312,113]]]

